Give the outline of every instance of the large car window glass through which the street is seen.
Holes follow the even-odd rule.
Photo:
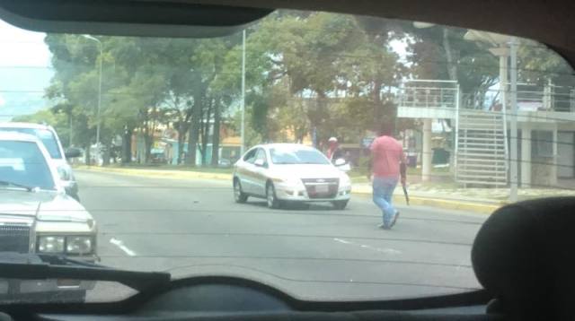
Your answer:
[[[413,298],[481,289],[470,251],[500,206],[575,195],[573,70],[533,40],[279,10],[204,39],[2,22],[0,44],[0,121],[79,154],[58,172],[72,197],[0,207],[0,227],[30,204],[58,220],[25,250]],[[2,148],[0,180],[53,187],[35,147]]]

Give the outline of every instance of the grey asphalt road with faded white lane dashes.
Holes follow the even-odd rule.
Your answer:
[[[389,299],[478,288],[473,238],[487,216],[399,207],[381,230],[371,200],[344,211],[235,204],[231,182],[78,170],[80,196],[99,225],[103,265],[189,275],[244,276],[301,299]],[[128,291],[117,290],[116,294]]]

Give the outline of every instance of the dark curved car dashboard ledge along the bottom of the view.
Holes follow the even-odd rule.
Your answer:
[[[0,308],[0,320],[496,320],[489,297],[475,291],[446,297],[391,301],[318,302],[295,299],[260,282],[197,277],[106,304]]]

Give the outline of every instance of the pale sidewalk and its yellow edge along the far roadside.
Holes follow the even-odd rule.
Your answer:
[[[209,171],[177,170],[177,169],[134,169],[134,168],[101,168],[77,166],[76,169],[88,169],[101,172],[113,172],[124,175],[135,175],[157,178],[175,179],[222,179],[231,180],[232,174]],[[441,186],[441,185],[438,185]],[[411,184],[409,189],[411,205],[425,205],[431,207],[445,208],[449,210],[470,211],[475,213],[492,213],[500,206],[506,204],[509,189],[491,188],[434,188],[424,186],[420,183]],[[554,191],[554,192],[553,192]],[[575,191],[572,195],[575,195]],[[367,182],[354,183],[352,194],[371,197],[371,184]],[[522,198],[533,198],[535,196],[565,195],[564,190],[520,190]],[[405,204],[403,189],[397,187],[394,192],[394,202]]]

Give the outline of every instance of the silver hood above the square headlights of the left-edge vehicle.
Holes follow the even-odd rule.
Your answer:
[[[39,221],[88,221],[92,216],[74,198],[59,192],[0,189],[0,214],[35,217]]]

